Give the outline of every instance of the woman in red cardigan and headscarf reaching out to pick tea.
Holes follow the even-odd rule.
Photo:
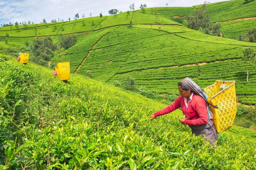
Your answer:
[[[204,89],[200,88],[190,78],[186,77],[178,83],[180,95],[171,105],[150,115],[152,120],[181,108],[185,117],[179,118],[181,124],[188,125],[196,136],[201,135],[212,146],[218,146],[217,132],[212,121],[213,114],[206,102],[208,96]]]

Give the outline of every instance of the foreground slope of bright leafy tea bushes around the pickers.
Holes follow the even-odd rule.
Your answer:
[[[151,121],[165,105],[81,75],[65,84],[50,69],[0,57],[1,169],[256,167],[256,131],[233,126],[212,148],[179,123],[180,110]]]

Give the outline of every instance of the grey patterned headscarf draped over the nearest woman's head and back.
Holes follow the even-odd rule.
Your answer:
[[[196,93],[197,95],[201,96],[205,102],[206,102],[206,108],[207,108],[207,115],[208,115],[208,119],[213,119],[213,114],[210,110],[209,105],[213,106],[212,104],[210,104],[207,99],[208,99],[208,95],[205,94],[205,91],[203,88],[199,87],[199,85],[197,85],[195,82],[193,82],[193,80],[191,80],[190,78],[186,77],[185,79],[183,79],[181,81],[181,83],[183,85],[186,85],[190,90],[192,90],[194,93]],[[214,108],[216,108],[216,106],[213,106]]]

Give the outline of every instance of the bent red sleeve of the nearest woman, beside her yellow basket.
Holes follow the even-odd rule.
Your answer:
[[[193,107],[195,108],[195,112],[198,114],[198,118],[194,120],[185,119],[185,125],[204,125],[208,123],[208,116],[207,116],[207,109],[206,109],[206,102],[200,96],[195,96],[191,101],[193,103]]]

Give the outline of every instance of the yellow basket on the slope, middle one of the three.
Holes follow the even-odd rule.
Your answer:
[[[55,70],[57,72],[57,76],[61,81],[65,81],[69,79],[70,75],[70,65],[69,62],[57,63],[55,66]]]

